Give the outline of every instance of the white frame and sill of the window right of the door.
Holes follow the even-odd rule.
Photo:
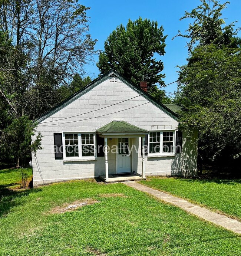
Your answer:
[[[160,152],[159,153],[150,153],[150,132],[160,132]],[[173,147],[172,152],[163,152],[163,132],[172,132],[173,133]],[[176,145],[176,131],[175,130],[151,130],[148,134],[148,157],[168,157],[174,156]]]

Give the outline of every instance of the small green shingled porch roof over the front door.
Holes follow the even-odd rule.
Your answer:
[[[139,128],[133,124],[125,121],[112,121],[109,124],[103,125],[96,130],[98,133],[103,132],[144,132],[148,133],[145,129]]]

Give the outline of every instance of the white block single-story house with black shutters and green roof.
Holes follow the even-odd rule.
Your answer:
[[[110,70],[39,116],[43,149],[32,155],[33,185],[197,175],[197,132],[186,137],[179,107],[146,91],[146,82],[134,85]]]

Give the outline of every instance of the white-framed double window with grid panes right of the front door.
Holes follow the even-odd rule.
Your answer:
[[[155,131],[149,134],[149,154],[172,154],[173,153],[173,131]]]

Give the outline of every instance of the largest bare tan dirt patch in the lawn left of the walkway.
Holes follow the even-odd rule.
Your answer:
[[[93,200],[92,198],[85,198],[83,200],[77,200],[71,204],[63,204],[62,206],[53,207],[50,213],[66,213],[74,211],[82,206],[100,203],[99,201]]]

